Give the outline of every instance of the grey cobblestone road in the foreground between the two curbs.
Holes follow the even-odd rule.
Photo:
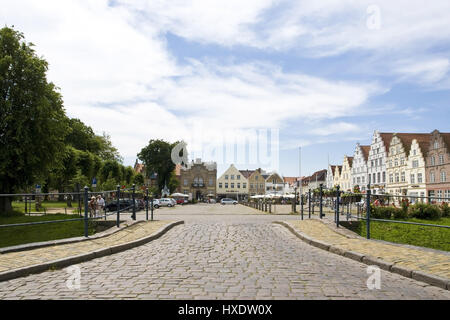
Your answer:
[[[80,290],[66,287],[64,269],[0,282],[0,299],[450,299],[385,271],[369,290],[366,265],[305,244],[270,216],[218,217],[186,216],[155,241],[79,264]]]

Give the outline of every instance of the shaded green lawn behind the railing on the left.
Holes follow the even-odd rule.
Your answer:
[[[14,215],[1,217],[0,225],[36,221],[79,218],[78,215],[52,214],[46,216]],[[89,222],[89,235],[95,233],[94,222]],[[19,244],[79,237],[84,235],[84,221],[49,223],[35,226],[0,228],[0,248]]]

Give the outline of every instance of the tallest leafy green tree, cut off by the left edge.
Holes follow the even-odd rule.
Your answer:
[[[43,182],[63,156],[68,130],[63,101],[47,81],[47,62],[22,33],[0,29],[0,192]],[[0,198],[0,214],[12,211]]]

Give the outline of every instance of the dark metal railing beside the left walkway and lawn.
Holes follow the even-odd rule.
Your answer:
[[[92,205],[90,206],[89,200],[92,200],[92,197],[96,197],[98,195],[104,197],[105,200],[105,206],[101,210],[99,210],[98,207],[93,207]],[[120,186],[117,186],[116,190],[109,190],[109,191],[89,191],[88,187],[84,187],[84,190],[81,192],[0,194],[0,197],[13,199],[22,198],[25,202],[25,214],[28,215],[31,215],[32,201],[38,200],[39,203],[40,200],[45,196],[71,197],[71,199],[78,201],[80,218],[37,221],[37,222],[16,223],[16,224],[3,224],[0,225],[0,229],[62,223],[70,221],[84,221],[84,236],[88,237],[90,221],[100,219],[107,220],[108,216],[116,215],[116,226],[119,228],[120,215],[121,213],[124,212],[131,213],[131,218],[133,220],[136,220],[136,212],[139,210],[145,210],[145,219],[149,220],[149,210],[150,210],[151,213],[150,218],[153,221],[153,210],[154,210],[153,197],[152,196],[149,197],[148,188],[145,189],[144,193],[137,193],[135,185],[133,185],[131,188],[123,188],[123,189]],[[43,208],[44,214],[46,214],[45,207]],[[84,216],[82,216],[81,211],[84,211]]]

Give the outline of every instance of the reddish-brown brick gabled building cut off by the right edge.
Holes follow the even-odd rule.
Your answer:
[[[431,133],[426,156],[426,182],[428,196],[450,202],[450,133],[438,130]]]

